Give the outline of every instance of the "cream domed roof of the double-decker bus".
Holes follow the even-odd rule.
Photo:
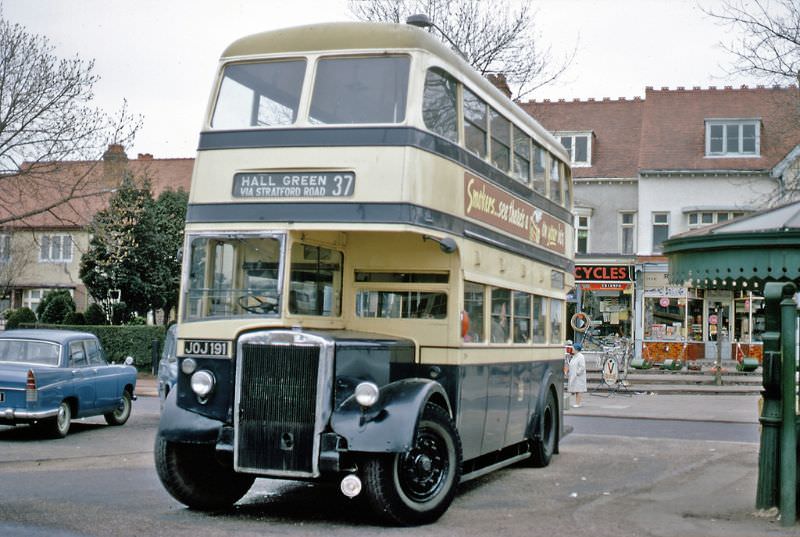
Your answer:
[[[517,118],[522,118],[528,128],[546,140],[551,152],[569,162],[569,155],[550,132],[542,127],[528,112],[508,99],[494,84],[480,75],[461,56],[450,50],[441,41],[410,24],[386,22],[329,22],[282,28],[248,35],[231,43],[222,53],[222,61],[246,56],[267,54],[309,53],[328,50],[425,50],[444,59],[458,69],[458,73],[469,79],[496,101],[506,104]]]

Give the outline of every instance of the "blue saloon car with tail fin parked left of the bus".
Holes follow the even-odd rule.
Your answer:
[[[132,362],[110,365],[88,332],[0,333],[0,425],[36,424],[55,438],[67,435],[72,418],[102,415],[122,425],[135,399]]]

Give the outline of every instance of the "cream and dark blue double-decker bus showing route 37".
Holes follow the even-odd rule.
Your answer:
[[[391,523],[547,465],[573,286],[568,155],[418,28],[331,23],[223,53],[156,438],[197,509],[335,480]]]

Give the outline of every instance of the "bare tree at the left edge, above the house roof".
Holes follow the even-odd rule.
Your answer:
[[[0,6],[0,224],[24,220],[108,190],[92,166],[110,143],[130,143],[141,118],[125,105],[93,105],[94,61],[59,59],[46,37],[5,18]]]

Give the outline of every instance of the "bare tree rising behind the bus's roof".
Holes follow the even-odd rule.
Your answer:
[[[409,15],[426,14],[479,73],[505,76],[516,99],[556,80],[575,56],[573,50],[553,60],[527,2],[514,8],[508,0],[350,0],[348,5],[356,18],[368,21],[405,22]]]

